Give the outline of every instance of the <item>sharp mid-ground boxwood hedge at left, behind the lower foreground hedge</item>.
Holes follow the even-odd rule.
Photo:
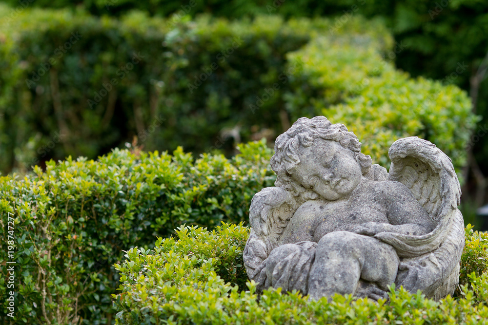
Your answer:
[[[263,141],[239,149],[232,160],[203,154],[195,161],[181,148],[173,155],[116,149],[97,161],[50,161],[45,172],[36,167],[24,178],[1,177],[0,225],[5,231],[0,233],[0,261],[7,260],[11,212],[16,320],[104,324],[114,313],[110,294],[118,275],[111,265],[122,261],[122,249],[149,249],[155,238],[170,236],[183,223],[212,228],[223,220],[248,220],[251,197],[272,186],[275,176]],[[244,237],[238,238],[239,247]],[[216,257],[218,252],[201,254]],[[229,273],[222,274],[239,283],[236,274],[242,279],[243,271],[232,266],[234,257],[227,256]],[[1,267],[1,324],[9,320],[4,318],[5,298],[12,289],[7,290],[6,278]]]

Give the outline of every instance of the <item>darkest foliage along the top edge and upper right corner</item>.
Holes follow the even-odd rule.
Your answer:
[[[17,0],[6,0],[12,6],[24,7]],[[25,0],[28,3],[28,0]],[[28,6],[85,8],[95,15],[119,16],[131,9],[150,15],[168,17],[170,21],[188,20],[201,13],[240,19],[243,16],[282,15],[290,17],[329,16],[334,26],[349,23],[353,16],[380,16],[397,41],[395,53],[389,56],[396,65],[413,76],[426,76],[454,83],[465,90],[476,83],[476,72],[488,51],[488,5],[473,0],[213,0],[213,1],[136,1],[136,0],[36,0]],[[486,62],[485,62],[486,63]],[[480,131],[486,134],[488,81],[480,80],[477,113],[484,116]],[[472,138],[471,146],[478,163],[487,169],[486,137]]]

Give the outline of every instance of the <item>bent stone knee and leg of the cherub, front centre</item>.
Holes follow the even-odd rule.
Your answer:
[[[308,278],[313,299],[354,293],[359,279],[383,290],[395,281],[399,259],[395,250],[373,237],[349,231],[325,234],[317,245]]]

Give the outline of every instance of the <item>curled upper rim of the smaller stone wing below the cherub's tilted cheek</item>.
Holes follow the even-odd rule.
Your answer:
[[[272,209],[285,202],[290,203],[291,194],[279,187],[267,187],[256,193],[249,208],[249,223],[258,236],[268,235],[268,217]]]

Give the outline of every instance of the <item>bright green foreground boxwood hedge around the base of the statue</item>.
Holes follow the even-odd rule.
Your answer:
[[[468,243],[479,236],[469,227],[467,233]],[[466,285],[457,299],[433,301],[403,288],[391,288],[388,303],[339,295],[330,303],[307,301],[280,289],[265,290],[257,299],[254,283],[242,286],[247,235],[242,225],[224,224],[212,232],[182,226],[178,241],[159,238],[152,251],[127,251],[115,266],[123,283],[122,292],[112,296],[119,309],[116,324],[482,324],[488,317],[487,273],[467,276],[464,268]],[[481,246],[471,249],[477,252],[465,252],[463,263],[485,256]],[[480,263],[485,270],[486,260]]]

